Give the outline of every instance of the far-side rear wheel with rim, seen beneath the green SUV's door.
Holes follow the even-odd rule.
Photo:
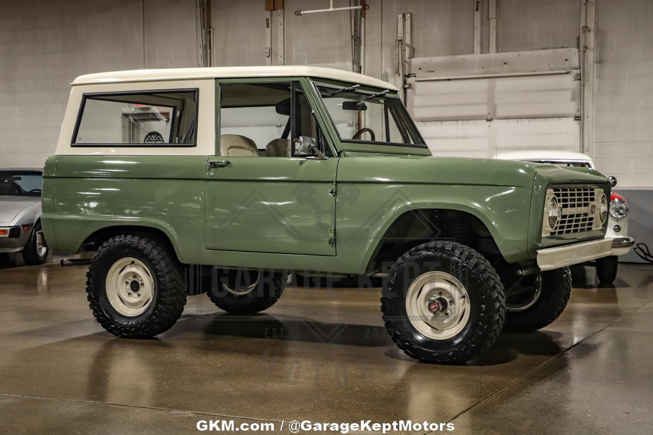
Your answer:
[[[287,275],[270,270],[217,270],[217,282],[206,293],[230,314],[249,315],[274,305],[285,289]]]

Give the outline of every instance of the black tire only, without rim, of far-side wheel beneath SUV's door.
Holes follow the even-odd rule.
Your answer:
[[[208,298],[229,314],[250,315],[267,310],[274,305],[285,289],[287,275],[270,270],[261,270],[258,285],[246,295],[229,293],[222,285],[222,274],[217,277],[212,288],[206,292]]]

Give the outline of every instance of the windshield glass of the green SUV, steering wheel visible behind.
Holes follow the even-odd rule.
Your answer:
[[[342,142],[426,148],[396,95],[358,88],[317,86]]]

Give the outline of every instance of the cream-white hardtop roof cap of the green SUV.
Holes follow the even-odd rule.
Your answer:
[[[280,65],[264,67],[217,67],[217,68],[170,68],[170,69],[136,69],[133,71],[97,72],[84,74],[71,84],[93,84],[114,82],[150,82],[155,80],[191,80],[197,78],[229,78],[229,77],[318,77],[343,82],[360,83],[375,88],[398,90],[391,84],[377,78],[364,76],[357,72],[342,69],[309,67],[306,65]]]

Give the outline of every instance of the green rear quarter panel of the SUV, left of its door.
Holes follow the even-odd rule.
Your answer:
[[[59,155],[44,174],[44,234],[55,251],[74,253],[100,229],[119,225],[163,231],[180,261],[204,250],[204,174],[208,157]]]

